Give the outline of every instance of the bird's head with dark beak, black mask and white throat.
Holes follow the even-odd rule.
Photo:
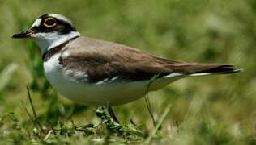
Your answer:
[[[19,32],[12,38],[35,39],[42,51],[45,52],[79,35],[70,19],[62,14],[43,14],[27,31]]]

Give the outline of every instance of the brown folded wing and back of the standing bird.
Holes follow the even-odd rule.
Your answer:
[[[80,37],[62,50],[60,63],[86,73],[91,82],[111,80],[149,80],[156,74],[164,77],[170,73],[207,73],[233,71],[232,65],[187,64],[152,56],[147,52],[98,39]]]

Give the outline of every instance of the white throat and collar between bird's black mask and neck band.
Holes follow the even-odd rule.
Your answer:
[[[36,43],[40,46],[42,54],[47,50],[57,47],[66,41],[80,36],[78,31],[71,31],[65,35],[58,35],[58,32],[51,33],[37,33],[33,34],[32,38],[36,40]]]

